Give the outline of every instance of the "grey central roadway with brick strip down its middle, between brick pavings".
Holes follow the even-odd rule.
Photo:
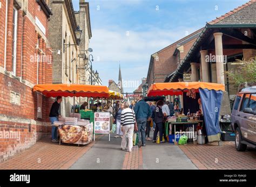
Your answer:
[[[120,149],[121,139],[113,136],[110,142],[108,136],[100,138],[70,169],[198,169],[171,143],[146,141],[145,147],[134,146],[128,153]]]

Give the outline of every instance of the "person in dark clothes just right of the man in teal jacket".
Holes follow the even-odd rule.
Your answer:
[[[163,122],[164,114],[161,107],[164,105],[163,100],[158,100],[156,110],[154,110],[154,121],[156,122],[156,129],[154,130],[153,143],[157,142],[157,133],[159,131],[160,143],[163,143]]]

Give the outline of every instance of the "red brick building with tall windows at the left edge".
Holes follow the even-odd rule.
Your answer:
[[[0,162],[32,146],[50,131],[51,99],[32,92],[52,83],[48,23],[51,10],[40,0],[1,0]]]

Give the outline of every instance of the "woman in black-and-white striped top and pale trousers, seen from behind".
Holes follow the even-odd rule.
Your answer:
[[[122,150],[126,149],[126,136],[128,138],[127,152],[132,151],[132,135],[134,131],[135,114],[132,109],[129,108],[129,103],[124,103],[124,110],[121,114],[121,130],[123,132],[123,139],[121,143]]]

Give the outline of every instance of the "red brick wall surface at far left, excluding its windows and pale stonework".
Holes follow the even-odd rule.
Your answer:
[[[5,2],[2,1],[0,9],[0,66],[4,68],[4,36],[5,36]],[[42,119],[37,118],[37,93],[26,84],[37,83],[37,61],[35,57],[38,53],[36,49],[38,33],[36,26],[27,16],[22,15],[22,10],[18,10],[17,21],[17,60],[16,77],[9,76],[8,71],[12,68],[12,9],[13,0],[9,1],[8,12],[8,34],[6,45],[6,70],[0,73],[0,133],[20,132],[20,140],[0,137],[0,162],[8,159],[15,153],[32,146],[42,135],[51,132],[49,125],[49,111],[52,98],[43,97]],[[46,38],[48,37],[48,20],[35,0],[28,1],[28,11],[33,18],[36,16],[46,28]],[[42,37],[42,36],[41,36]],[[22,39],[23,38],[23,39]],[[46,48],[45,39],[41,38],[39,48],[48,55],[46,59],[52,59],[51,52]],[[52,83],[52,62],[39,62],[39,84]],[[22,72],[21,72],[22,71]],[[19,78],[22,77],[20,81]],[[10,91],[21,95],[21,105],[10,103]]]

